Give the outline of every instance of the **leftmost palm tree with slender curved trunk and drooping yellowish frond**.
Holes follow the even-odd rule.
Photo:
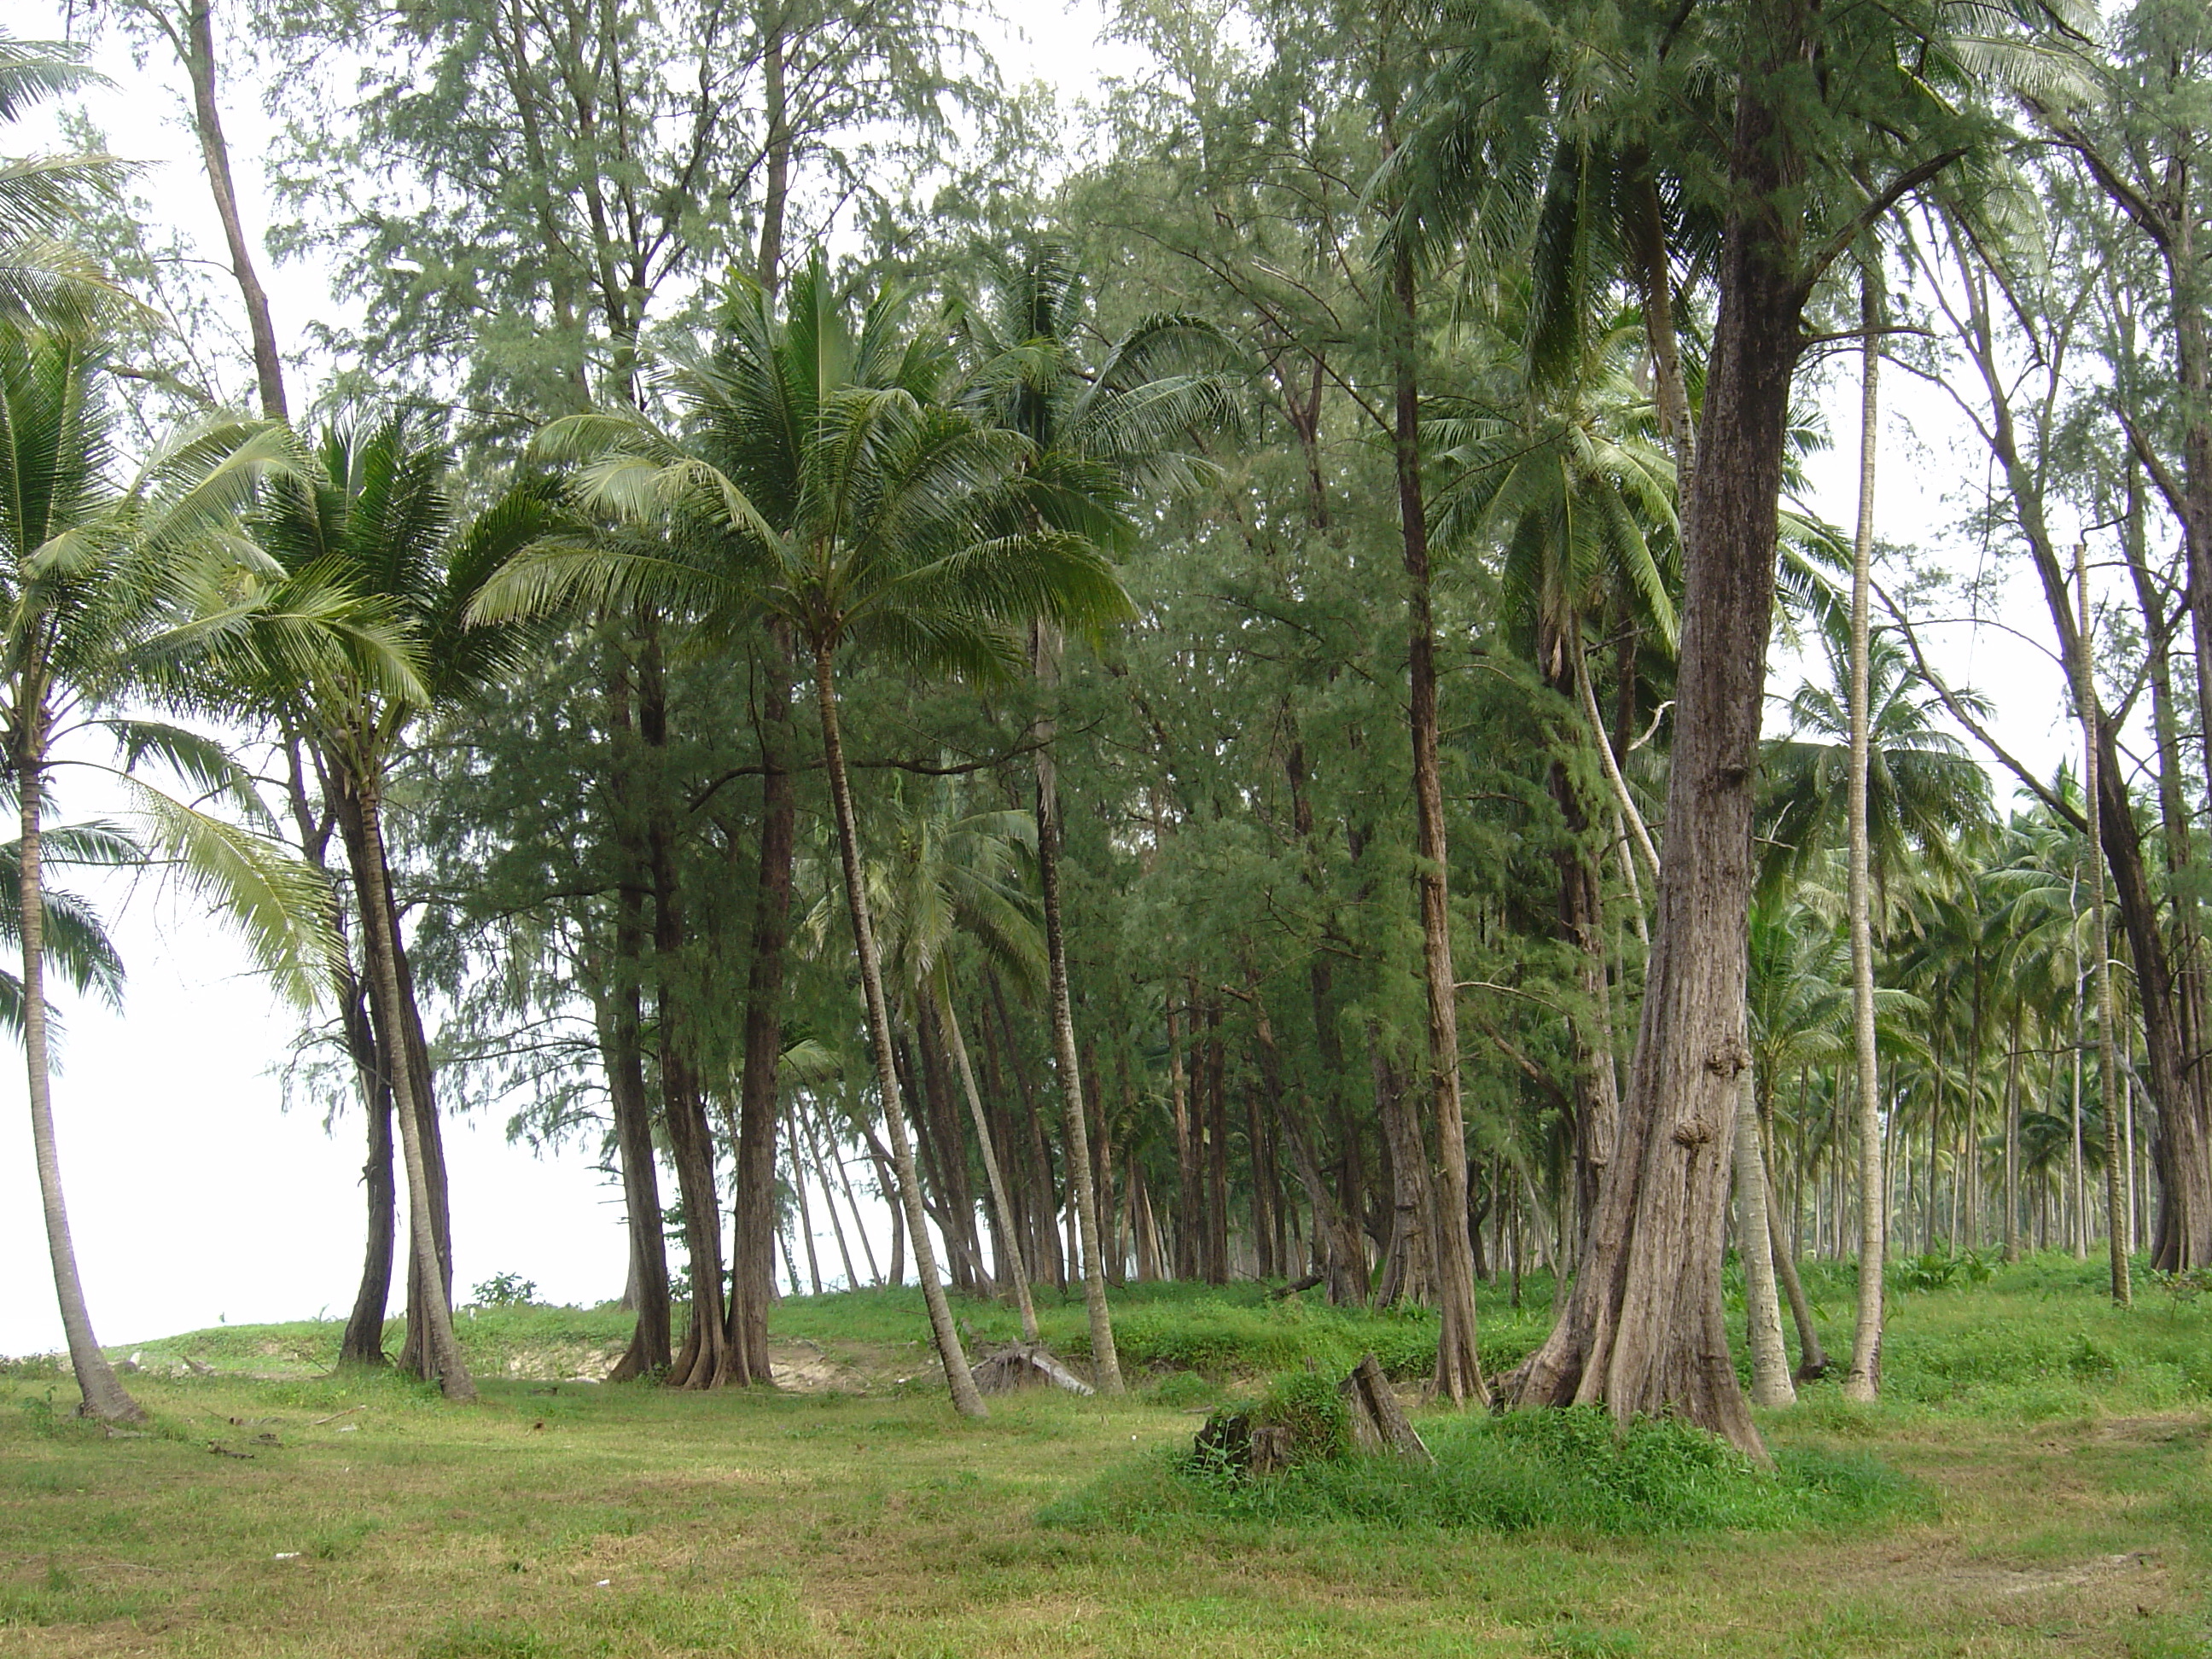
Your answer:
[[[283,580],[234,531],[232,515],[257,482],[290,465],[281,431],[201,427],[119,487],[108,427],[95,345],[0,325],[0,752],[22,825],[15,998],[31,1141],[80,1409],[128,1420],[139,1409],[93,1336],[55,1148],[46,964],[60,951],[49,949],[46,929],[73,927],[44,883],[58,748],[71,743],[75,761],[86,739],[115,743],[111,770],[144,818],[139,841],[226,909],[261,967],[305,1002],[332,949],[323,889],[252,830],[150,783],[146,768],[161,763],[199,799],[226,796],[241,814],[265,816],[217,743],[131,710],[206,706],[248,653],[316,661],[347,650],[365,666],[385,666],[387,653],[345,595]],[[82,856],[82,834],[60,836],[58,852]]]

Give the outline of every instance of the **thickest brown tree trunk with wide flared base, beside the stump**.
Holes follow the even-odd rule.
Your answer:
[[[1644,1020],[1590,1245],[1559,1325],[1522,1369],[1522,1402],[1601,1400],[1617,1420],[1674,1413],[1754,1458],[1728,1352],[1721,1250],[1743,1042],[1752,785],[1774,611],[1774,535],[1803,279],[1790,268],[1790,144],[1763,102],[1805,44],[1798,0],[1761,7],[1763,66],[1736,93],[1739,192],[1721,257],[1697,471],[1683,504],[1683,633],[1659,927]]]

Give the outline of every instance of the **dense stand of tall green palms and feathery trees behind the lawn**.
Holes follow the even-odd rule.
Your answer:
[[[234,480],[159,604],[243,619],[71,688],[201,816],[55,845],[321,982],[347,1358],[467,1387],[460,1110],[619,1179],[624,1369],[688,1387],[765,1376],[779,1287],[909,1276],[1086,1287],[1104,1378],[1104,1283],[1175,1276],[1433,1307],[1486,1398],[1478,1303],[1542,1265],[1509,1391],[1745,1440],[1683,1358],[1723,1243],[1767,1394],[1787,1312],[1829,1363],[1805,1256],[1867,1276],[1867,1391],[1885,1250],[2208,1265],[2199,11],[1126,7],[1079,115],[922,2],[88,22],[190,88],[228,254],[66,126],[4,349],[161,458],[117,546]],[[9,51],[0,113],[75,95]],[[345,301],[305,352],[272,257]],[[1900,398],[1966,440],[1924,546],[1874,540],[1931,493]],[[2048,666],[1953,684],[1962,615]]]

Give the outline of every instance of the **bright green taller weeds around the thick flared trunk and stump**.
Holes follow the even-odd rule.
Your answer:
[[[1433,1467],[1347,1458],[1241,1475],[1177,1449],[1106,1473],[1037,1520],[1133,1533],[1230,1522],[1619,1537],[1834,1531],[1931,1511],[1916,1482],[1851,1451],[1785,1447],[1765,1473],[1699,1429],[1639,1422],[1617,1433],[1597,1409],[1422,1427]]]

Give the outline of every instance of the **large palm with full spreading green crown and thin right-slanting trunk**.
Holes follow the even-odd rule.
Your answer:
[[[615,529],[549,538],[476,613],[653,599],[717,641],[745,637],[765,613],[805,650],[898,1201],[953,1405],[984,1416],[900,1104],[838,661],[854,648],[883,668],[1006,681],[1024,668],[1026,624],[1099,626],[1128,597],[1093,540],[1026,520],[1035,447],[940,403],[940,376],[942,352],[907,327],[905,299],[878,294],[854,319],[821,254],[781,312],[739,290],[714,356],[668,376],[688,416],[681,438],[633,414],[571,416],[540,434],[538,453],[568,465],[575,500]]]

